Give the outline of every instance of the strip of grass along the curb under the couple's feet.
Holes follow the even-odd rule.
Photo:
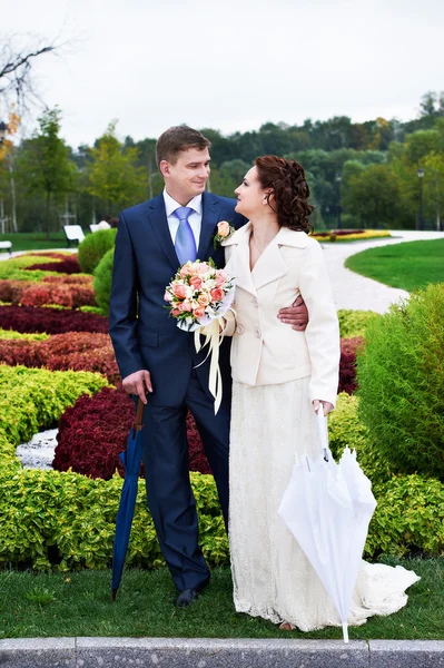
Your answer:
[[[387,561],[388,562],[388,561]],[[396,615],[373,617],[349,629],[354,639],[444,639],[444,560],[402,560],[422,577]],[[228,569],[213,572],[209,587],[190,608],[172,605],[166,569],[128,570],[117,601],[110,601],[110,571],[63,574],[0,572],[0,638],[127,636],[186,638],[341,638],[338,628],[292,633],[236,613]]]

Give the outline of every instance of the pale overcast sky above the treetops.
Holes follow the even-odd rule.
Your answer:
[[[443,0],[2,0],[0,26],[70,41],[36,72],[73,147],[114,119],[136,140],[180,122],[408,120],[444,90]]]

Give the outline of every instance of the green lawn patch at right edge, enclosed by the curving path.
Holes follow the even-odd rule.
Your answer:
[[[345,262],[352,272],[412,292],[444,282],[444,238],[368,248]]]

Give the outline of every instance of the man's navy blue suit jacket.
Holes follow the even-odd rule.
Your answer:
[[[197,257],[213,257],[223,267],[224,249],[213,245],[217,223],[228,220],[238,228],[246,218],[235,212],[236,200],[203,194],[203,220]],[[168,228],[162,194],[120,215],[116,238],[109,333],[124,377],[147,369],[151,374],[155,405],[179,405],[194,366],[206,352],[196,354],[194,335],[177,327],[165,308],[165,287],[176,274],[177,258]],[[208,387],[208,361],[197,366],[203,386]],[[220,350],[224,394],[229,394],[229,342]],[[209,391],[208,391],[209,393]]]

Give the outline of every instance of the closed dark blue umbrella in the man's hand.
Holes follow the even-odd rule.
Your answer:
[[[137,405],[137,418],[129,432],[127,449],[120,452],[119,459],[125,468],[125,482],[120,494],[120,504],[116,518],[116,536],[112,551],[112,582],[111,599],[115,601],[119,589],[121,573],[127,556],[129,534],[131,532],[132,517],[137,490],[139,487],[139,473],[142,453],[141,430],[144,428],[144,402],[139,399]]]

